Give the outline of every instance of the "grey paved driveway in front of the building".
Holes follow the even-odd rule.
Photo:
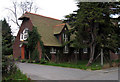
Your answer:
[[[118,68],[86,71],[30,63],[17,63],[17,65],[32,80],[118,80]]]

